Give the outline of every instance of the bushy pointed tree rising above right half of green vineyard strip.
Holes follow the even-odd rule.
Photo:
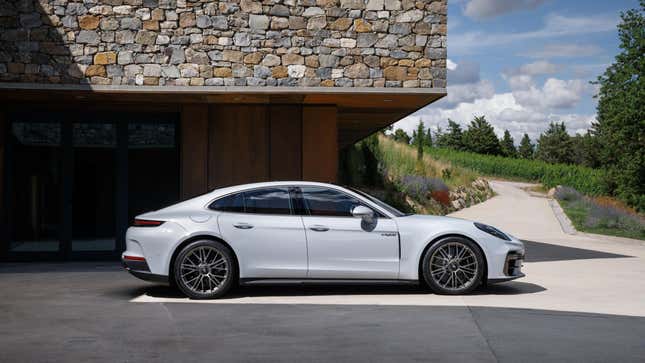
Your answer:
[[[549,124],[549,129],[538,139],[536,157],[548,163],[571,163],[573,148],[571,136],[564,122]]]

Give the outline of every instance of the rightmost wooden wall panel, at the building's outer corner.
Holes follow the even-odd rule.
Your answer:
[[[302,109],[302,178],[335,183],[338,173],[338,128],[335,106]]]

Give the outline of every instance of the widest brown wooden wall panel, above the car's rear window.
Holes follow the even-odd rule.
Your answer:
[[[269,180],[266,105],[215,105],[210,109],[208,186]]]

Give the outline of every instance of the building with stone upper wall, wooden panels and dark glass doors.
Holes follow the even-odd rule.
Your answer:
[[[446,0],[0,0],[0,253],[116,256],[143,211],[333,182],[445,87]]]

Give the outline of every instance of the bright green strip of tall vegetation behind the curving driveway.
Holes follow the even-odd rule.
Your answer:
[[[540,160],[483,155],[452,149],[430,148],[426,153],[488,176],[539,181],[548,188],[567,185],[587,195],[606,193],[602,183],[604,172],[578,165],[549,164]]]

